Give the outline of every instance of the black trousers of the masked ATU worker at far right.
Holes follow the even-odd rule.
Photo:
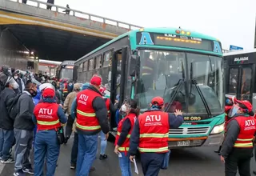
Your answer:
[[[250,159],[254,156],[253,148],[234,148],[225,160],[225,176],[250,176]]]

